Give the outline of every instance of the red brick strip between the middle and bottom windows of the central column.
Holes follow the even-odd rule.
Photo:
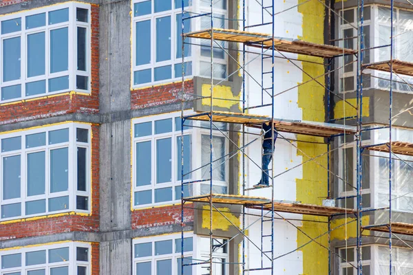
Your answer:
[[[190,221],[193,221],[193,209],[184,208],[184,223]],[[134,210],[131,214],[131,223],[132,230],[161,225],[180,225],[181,206],[165,206]]]

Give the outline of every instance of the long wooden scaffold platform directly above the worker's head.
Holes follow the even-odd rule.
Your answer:
[[[211,112],[198,112],[197,116],[189,116],[189,120],[209,121]],[[224,111],[213,111],[212,118],[215,122],[227,122],[246,124],[255,128],[261,128],[262,122],[269,122],[271,118],[266,115],[253,115],[246,113],[231,113]],[[273,120],[277,131],[285,133],[297,133],[302,135],[313,135],[317,137],[330,137],[331,135],[339,135],[346,130],[347,134],[356,133],[356,129],[352,126],[342,126],[339,124],[319,123],[319,122],[303,122],[298,120]]]

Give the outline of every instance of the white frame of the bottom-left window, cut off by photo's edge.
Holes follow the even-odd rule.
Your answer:
[[[48,263],[49,253],[48,250],[56,249],[56,248],[69,248],[69,261],[61,261],[58,263]],[[88,261],[77,261],[76,260],[76,248],[87,248],[88,249]],[[25,253],[27,252],[34,252],[34,251],[41,251],[46,250],[46,263],[39,264],[39,265],[25,265]],[[87,268],[86,274],[92,274],[92,247],[89,243],[79,243],[79,242],[65,242],[65,243],[56,243],[51,245],[41,245],[41,246],[32,246],[26,248],[18,248],[12,250],[3,250],[0,251],[0,262],[1,256],[5,256],[8,254],[17,254],[21,253],[21,267],[11,267],[8,269],[1,269],[0,265],[0,274],[9,274],[12,272],[21,272],[21,274],[27,274],[26,272],[30,270],[39,270],[45,269],[45,274],[50,274],[50,268],[52,267],[69,267],[68,274],[77,274],[77,267],[83,266]]]

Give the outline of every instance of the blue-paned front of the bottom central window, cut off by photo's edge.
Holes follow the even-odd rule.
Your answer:
[[[184,264],[192,263],[193,236],[184,234]],[[182,270],[182,239],[180,234],[134,240],[134,274],[173,275]],[[191,275],[195,266],[184,266],[184,274]]]

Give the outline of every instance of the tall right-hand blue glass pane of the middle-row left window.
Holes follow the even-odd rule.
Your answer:
[[[50,150],[50,192],[67,191],[68,169],[69,169],[68,148]]]

